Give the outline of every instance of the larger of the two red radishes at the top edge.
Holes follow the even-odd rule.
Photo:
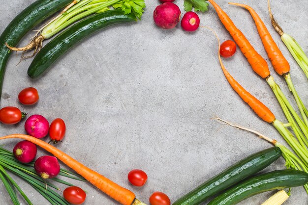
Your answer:
[[[154,22],[164,29],[171,29],[180,22],[181,11],[179,6],[171,2],[165,2],[154,10]]]

